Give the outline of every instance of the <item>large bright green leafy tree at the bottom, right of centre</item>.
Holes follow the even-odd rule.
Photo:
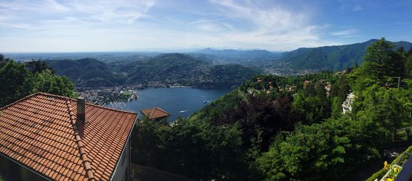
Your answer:
[[[378,157],[381,130],[372,121],[348,117],[300,125],[253,163],[253,180],[345,180]]]

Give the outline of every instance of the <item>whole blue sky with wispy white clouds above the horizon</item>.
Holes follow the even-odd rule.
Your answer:
[[[411,29],[411,0],[0,0],[0,53],[290,51]]]

